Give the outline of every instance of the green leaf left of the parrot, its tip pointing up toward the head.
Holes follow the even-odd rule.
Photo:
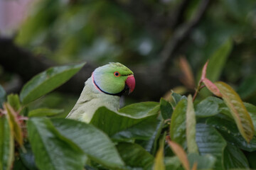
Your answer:
[[[52,67],[40,74],[37,74],[28,81],[21,89],[21,102],[23,105],[35,101],[37,98],[48,94],[68,79],[73,77],[85,63],[70,66]]]

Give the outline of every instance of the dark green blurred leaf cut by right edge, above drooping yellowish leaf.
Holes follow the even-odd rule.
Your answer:
[[[256,91],[256,75],[246,77],[242,84],[238,87],[238,94],[241,98],[247,98],[255,95]]]

